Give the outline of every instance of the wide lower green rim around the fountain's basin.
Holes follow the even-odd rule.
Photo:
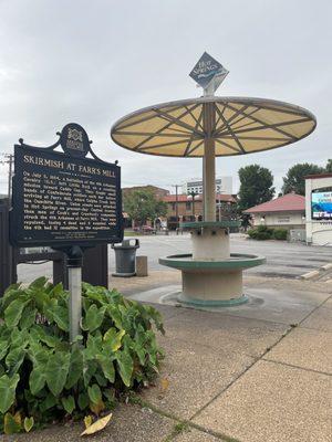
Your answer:
[[[193,261],[193,254],[170,255],[159,257],[159,264],[178,270],[241,270],[256,267],[257,265],[264,264],[267,259],[264,256],[231,253],[229,260],[224,261]]]

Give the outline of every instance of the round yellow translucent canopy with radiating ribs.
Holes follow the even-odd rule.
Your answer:
[[[221,157],[289,145],[315,125],[314,115],[288,103],[204,96],[136,110],[117,120],[111,136],[126,149],[167,157],[204,157],[208,138]]]

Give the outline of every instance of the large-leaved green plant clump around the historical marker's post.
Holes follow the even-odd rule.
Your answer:
[[[69,293],[41,277],[0,301],[0,427],[29,431],[101,413],[158,372],[159,313],[118,292],[83,284],[82,335],[69,343]]]

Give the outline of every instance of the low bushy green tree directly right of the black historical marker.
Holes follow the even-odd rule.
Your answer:
[[[141,227],[146,224],[147,220],[153,221],[158,217],[165,217],[167,213],[167,203],[158,200],[149,190],[127,192],[124,194],[123,207],[131,219]]]

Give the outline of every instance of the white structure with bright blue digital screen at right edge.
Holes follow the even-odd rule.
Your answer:
[[[332,173],[305,177],[307,243],[332,245]]]

